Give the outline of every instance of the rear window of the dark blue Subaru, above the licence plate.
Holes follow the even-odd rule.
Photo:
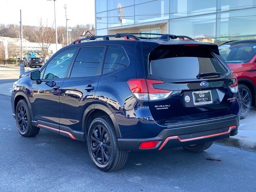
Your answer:
[[[158,47],[150,52],[149,64],[151,75],[175,80],[196,79],[204,73],[222,76],[227,72],[209,50],[198,47]]]

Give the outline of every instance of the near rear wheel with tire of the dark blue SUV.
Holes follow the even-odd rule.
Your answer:
[[[126,164],[129,152],[119,149],[116,131],[108,116],[92,121],[87,141],[92,162],[100,170],[110,172]]]

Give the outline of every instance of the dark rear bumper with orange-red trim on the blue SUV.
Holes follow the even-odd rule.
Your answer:
[[[193,144],[205,143],[234,136],[238,133],[238,118],[223,120],[207,124],[184,126],[162,130],[158,136],[145,139],[119,138],[120,150],[143,151],[162,150]],[[155,148],[140,149],[140,144],[145,141],[159,141]]]

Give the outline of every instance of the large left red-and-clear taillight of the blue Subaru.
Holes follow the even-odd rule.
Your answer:
[[[164,83],[152,79],[131,79],[128,86],[138,100],[159,100],[167,98],[172,91],[154,88],[154,84]]]

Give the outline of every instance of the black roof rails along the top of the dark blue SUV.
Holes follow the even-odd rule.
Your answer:
[[[153,37],[142,37],[142,36],[136,36],[136,35],[159,35],[159,38]],[[73,41],[71,44],[76,44],[77,42],[80,43],[84,40],[96,40],[98,38],[103,38],[103,40],[109,40],[110,37],[114,38],[120,38],[120,37],[126,37],[126,38],[133,38],[134,40],[141,40],[141,39],[159,39],[159,40],[170,40],[170,39],[177,39],[177,38],[187,38],[188,40],[194,41],[191,37],[188,36],[176,36],[176,35],[170,35],[170,34],[160,34],[160,33],[117,33],[114,35],[104,35],[104,36],[90,36],[88,38],[82,38]]]

